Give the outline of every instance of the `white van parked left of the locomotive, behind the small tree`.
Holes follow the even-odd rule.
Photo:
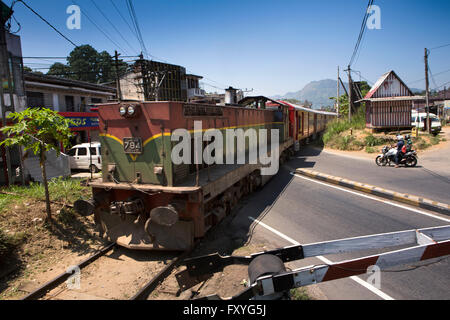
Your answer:
[[[67,153],[70,169],[86,169],[98,172],[102,168],[102,152],[100,142],[76,145]]]

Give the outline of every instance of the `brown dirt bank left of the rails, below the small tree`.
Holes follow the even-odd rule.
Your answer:
[[[53,224],[45,223],[45,203],[12,204],[1,214],[7,234],[21,233],[23,244],[0,259],[0,299],[17,299],[92,255],[105,243],[95,235],[92,218],[52,205]]]

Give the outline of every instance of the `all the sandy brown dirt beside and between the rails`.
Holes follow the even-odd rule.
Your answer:
[[[262,239],[250,237],[248,229],[234,230],[236,213],[210,230],[192,257],[211,253],[249,255],[274,249]],[[80,217],[72,209],[52,205],[54,222],[45,223],[45,203],[37,200],[12,202],[0,213],[0,228],[7,234],[20,234],[22,244],[8,256],[0,256],[0,300],[20,299],[44,283],[79,264],[106,245],[96,232],[92,217]],[[133,251],[116,248],[81,270],[81,287],[68,290],[66,284],[55,288],[44,299],[124,300],[131,298],[144,284],[174,258],[174,253]],[[149,297],[152,300],[192,299],[218,294],[229,297],[245,289],[247,266],[228,266],[191,290],[183,293],[174,270]],[[313,287],[297,295],[301,299],[321,299]]]

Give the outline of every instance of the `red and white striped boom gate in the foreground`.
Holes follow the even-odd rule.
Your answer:
[[[266,296],[276,296],[278,293],[287,292],[293,288],[365,274],[368,268],[372,266],[376,266],[380,271],[383,271],[394,266],[414,264],[423,260],[447,256],[450,255],[450,226],[296,245],[245,257],[222,257],[219,254],[212,254],[186,260],[184,264],[187,269],[177,274],[177,279],[181,289],[186,290],[205,280],[205,275],[221,271],[225,266],[232,264],[249,264],[249,274],[251,274],[252,263],[254,264],[257,259],[262,260],[262,256],[276,256],[282,263],[285,263],[309,257],[398,246],[410,247],[353,260],[302,267],[292,271],[261,276],[253,281],[245,291],[227,299],[267,298]],[[260,274],[267,274],[264,272],[264,265],[256,264],[256,269]],[[269,273],[273,271],[273,266],[267,266],[267,268]],[[209,296],[204,299],[221,298]]]

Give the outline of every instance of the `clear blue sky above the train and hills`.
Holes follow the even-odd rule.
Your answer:
[[[4,0],[11,4],[11,0]],[[81,10],[122,49],[82,16],[80,30],[68,30],[71,0],[25,0],[76,44],[98,51],[137,55],[139,43],[111,0],[95,0],[130,42],[130,48],[92,4],[76,0]],[[112,0],[128,22],[125,0]],[[297,91],[308,82],[336,78],[337,66],[348,65],[367,0],[133,0],[149,53],[205,76],[205,89],[254,88],[255,94]],[[424,48],[450,44],[450,1],[375,0],[381,8],[381,30],[366,30],[358,60],[352,66],[375,82],[391,69],[411,87],[423,88]],[[22,29],[23,54],[67,56],[73,46],[20,2],[14,7]],[[13,25],[15,29],[16,25]],[[432,50],[431,71],[450,69],[450,46]],[[158,60],[158,59],[155,59]],[[32,67],[52,61],[26,60]],[[38,64],[41,63],[41,64]],[[345,76],[342,74],[342,76]],[[359,76],[355,76],[359,80]],[[450,72],[434,77],[450,81]],[[435,85],[430,82],[431,88]],[[450,83],[447,85],[450,86]]]

